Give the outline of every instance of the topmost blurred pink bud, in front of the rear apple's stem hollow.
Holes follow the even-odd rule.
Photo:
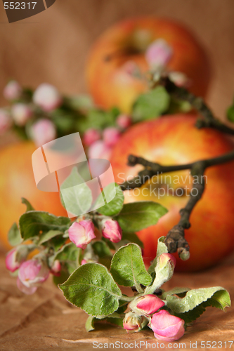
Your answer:
[[[157,39],[148,46],[145,59],[150,67],[165,67],[172,56],[172,48],[164,39]]]

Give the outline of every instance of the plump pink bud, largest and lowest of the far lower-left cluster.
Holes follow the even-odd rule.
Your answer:
[[[36,259],[27,260],[20,265],[18,288],[23,293],[34,293],[37,287],[46,281],[48,275],[49,269],[46,263]]]

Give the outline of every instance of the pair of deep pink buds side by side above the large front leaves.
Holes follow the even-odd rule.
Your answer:
[[[122,229],[117,220],[113,220],[110,217],[103,218],[100,216],[98,224],[103,237],[106,239],[109,239],[114,243],[117,243],[122,239]],[[91,219],[80,220],[78,218],[77,221],[70,226],[68,235],[70,241],[72,241],[77,247],[80,249],[86,249],[86,246],[91,243],[93,239],[96,239],[93,221]]]

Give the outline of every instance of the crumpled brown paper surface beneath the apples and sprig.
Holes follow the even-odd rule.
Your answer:
[[[234,255],[221,265],[196,274],[174,274],[164,284],[164,289],[175,286],[188,286],[191,289],[223,286],[234,300]],[[162,350],[161,341],[157,344],[152,331],[126,333],[124,329],[110,325],[98,325],[95,331],[85,330],[87,314],[74,307],[63,298],[63,293],[51,280],[41,286],[32,296],[18,291],[16,279],[11,277],[4,264],[4,254],[0,255],[0,350],[1,351],[47,351],[47,350],[94,350],[99,343],[103,349],[120,350]],[[208,307],[206,312],[189,326],[180,340],[164,342],[164,348],[171,350],[204,350],[201,341],[211,342],[216,350],[230,348],[228,340],[234,340],[234,310],[226,313]],[[134,344],[136,341],[136,345]],[[141,348],[140,348],[140,341]],[[143,345],[143,342],[148,342]],[[221,343],[218,343],[218,342]],[[224,342],[227,341],[227,344]],[[95,342],[95,344],[93,344]],[[117,343],[116,343],[117,342]],[[197,347],[195,343],[197,342]],[[216,342],[216,344],[215,344]],[[122,344],[121,344],[122,343]],[[152,347],[149,346],[149,344]],[[103,344],[103,345],[101,345]],[[125,347],[124,347],[125,344]],[[176,345],[177,344],[177,345]],[[203,344],[204,345],[204,344]],[[100,348],[98,348],[100,350]],[[234,349],[234,343],[231,346]],[[207,348],[205,348],[207,350]]]

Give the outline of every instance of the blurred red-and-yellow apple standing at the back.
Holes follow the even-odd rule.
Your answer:
[[[93,45],[86,74],[97,105],[131,111],[134,100],[148,84],[126,73],[124,64],[136,62],[141,72],[148,71],[145,49],[156,39],[164,39],[173,50],[167,69],[186,74],[195,95],[206,94],[211,75],[209,60],[193,34],[172,20],[134,18],[110,27]],[[110,55],[112,58],[105,60]]]

